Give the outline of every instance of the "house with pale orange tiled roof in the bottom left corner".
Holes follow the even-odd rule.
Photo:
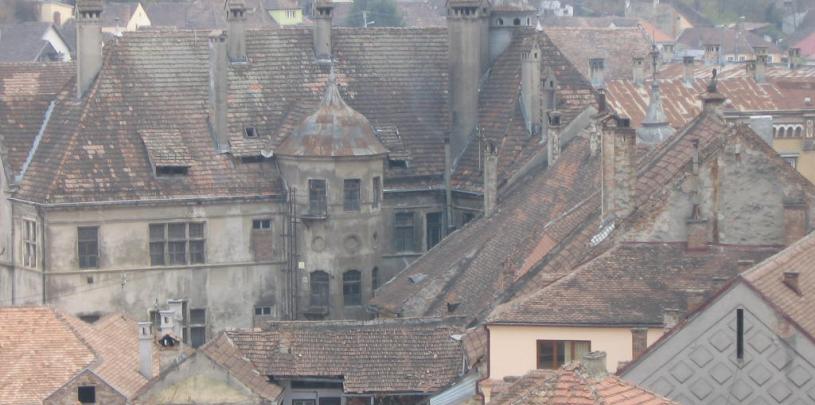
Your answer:
[[[141,368],[136,321],[110,314],[94,322],[45,307],[0,309],[0,402],[125,404],[158,374]],[[150,341],[152,345],[152,341]]]

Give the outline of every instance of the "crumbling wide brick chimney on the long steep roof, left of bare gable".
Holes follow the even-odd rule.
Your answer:
[[[637,133],[628,118],[615,117],[616,127],[605,134],[603,154],[603,212],[623,218],[634,210]]]

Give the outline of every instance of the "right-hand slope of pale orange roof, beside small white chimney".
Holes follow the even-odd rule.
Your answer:
[[[72,316],[65,316],[65,320],[98,356],[99,362],[91,370],[105,382],[126,398],[132,398],[147,383],[139,372],[139,334],[135,320],[121,314],[107,315],[93,324]],[[158,375],[158,350],[153,350],[152,361],[153,375]]]

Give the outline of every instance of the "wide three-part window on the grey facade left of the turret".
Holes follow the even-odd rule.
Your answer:
[[[203,222],[150,224],[150,265],[204,263],[204,242]]]

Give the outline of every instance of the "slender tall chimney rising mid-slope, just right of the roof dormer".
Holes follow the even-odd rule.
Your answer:
[[[209,34],[209,126],[219,152],[229,151],[229,133],[226,123],[227,93],[227,35],[222,30]]]

